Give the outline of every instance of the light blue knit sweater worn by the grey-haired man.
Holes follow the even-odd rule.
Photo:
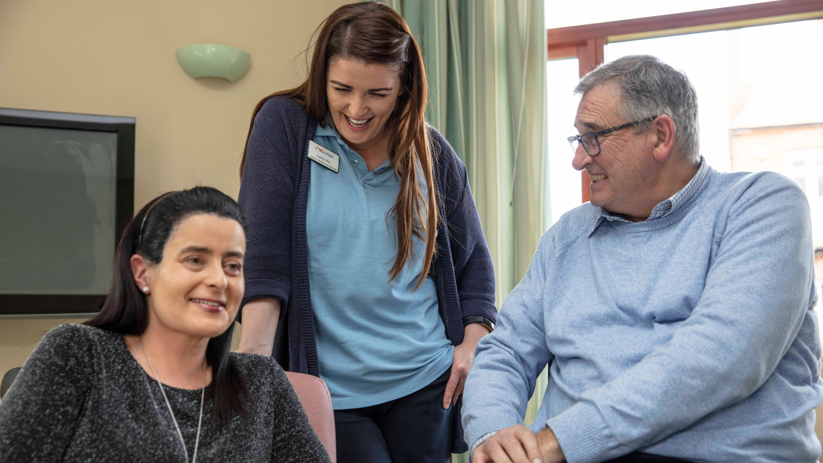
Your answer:
[[[708,166],[707,166],[708,167]],[[469,446],[523,423],[569,463],[630,451],[693,461],[816,461],[823,403],[802,190],[708,167],[696,194],[647,222],[586,203],[540,241],[481,339],[463,394]]]

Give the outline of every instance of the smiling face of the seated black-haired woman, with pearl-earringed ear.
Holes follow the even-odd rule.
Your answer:
[[[139,255],[132,269],[150,288],[149,329],[213,338],[235,320],[243,297],[246,238],[239,223],[212,214],[186,217],[172,230],[159,264]]]

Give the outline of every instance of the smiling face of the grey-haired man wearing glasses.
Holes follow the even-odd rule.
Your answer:
[[[633,122],[618,114],[620,100],[620,91],[614,84],[604,83],[588,91],[574,118],[578,133],[598,132]],[[643,198],[657,181],[653,158],[656,138],[650,136],[651,132],[636,134],[629,128],[601,135],[598,137],[601,151],[597,156],[589,156],[582,144],[577,148],[572,166],[578,171],[585,169],[591,175],[593,206],[629,216],[642,214],[637,199]]]

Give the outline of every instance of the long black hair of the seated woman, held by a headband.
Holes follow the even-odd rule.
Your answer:
[[[85,325],[120,334],[142,334],[148,326],[149,312],[146,295],[134,281],[132,256],[139,254],[152,264],[159,264],[174,227],[196,214],[230,218],[245,230],[242,209],[218,189],[198,186],[152,199],[123,230],[114,251],[114,277],[109,295],[97,316]],[[251,399],[243,373],[229,361],[232,328],[230,326],[223,334],[209,339],[206,348],[206,362],[212,367],[212,385],[209,386],[214,409],[212,418],[226,426],[231,410],[244,414],[245,403]]]

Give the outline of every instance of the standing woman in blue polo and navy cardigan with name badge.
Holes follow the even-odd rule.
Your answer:
[[[402,16],[353,3],[323,22],[306,81],[263,99],[249,130],[239,351],[326,381],[340,463],[466,450],[460,395],[494,328],[494,270],[426,91]]]

